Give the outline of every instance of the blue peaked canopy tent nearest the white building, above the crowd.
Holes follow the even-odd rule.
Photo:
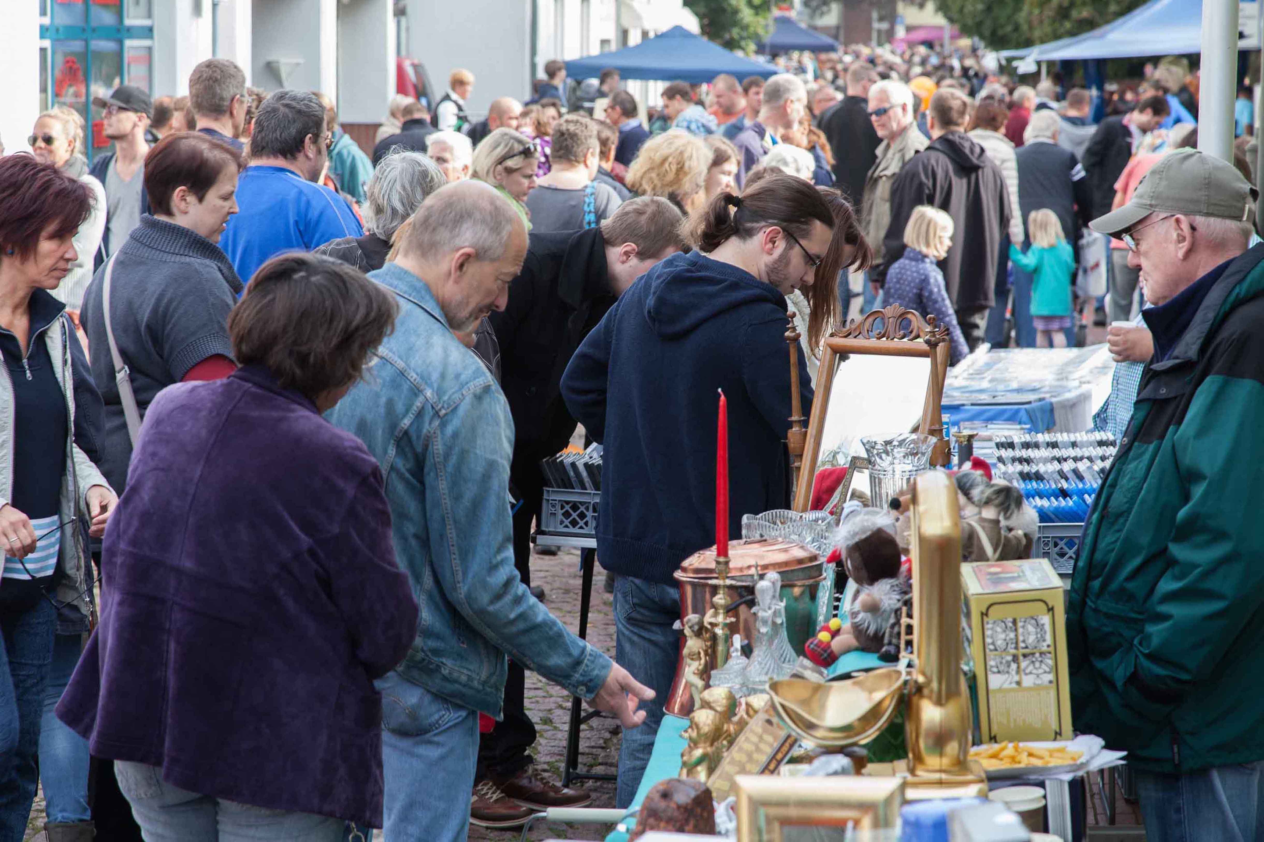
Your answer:
[[[586,56],[566,62],[566,76],[590,78],[613,67],[624,80],[659,80],[702,85],[720,73],[731,73],[742,80],[747,76],[769,78],[780,71],[772,64],[756,62],[732,53],[695,35],[684,27],[667,32],[632,47]]]

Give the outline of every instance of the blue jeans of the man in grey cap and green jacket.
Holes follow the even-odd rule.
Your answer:
[[[1264,761],[1183,775],[1135,774],[1149,842],[1264,839]]]

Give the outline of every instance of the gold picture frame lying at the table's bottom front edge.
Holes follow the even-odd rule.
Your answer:
[[[734,792],[738,842],[782,842],[789,827],[894,828],[904,805],[900,778],[738,775]]]

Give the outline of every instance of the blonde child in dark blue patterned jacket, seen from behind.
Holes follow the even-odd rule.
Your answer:
[[[969,353],[969,347],[948,298],[944,274],[937,265],[948,255],[952,235],[953,221],[944,211],[929,205],[913,208],[904,226],[904,245],[908,247],[887,271],[881,303],[884,307],[899,304],[925,317],[934,316],[937,324],[948,328],[951,365],[957,365]]]

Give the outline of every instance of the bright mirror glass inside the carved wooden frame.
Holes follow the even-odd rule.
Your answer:
[[[817,466],[846,466],[849,457],[865,456],[863,436],[916,429],[929,384],[930,357],[849,355],[834,374]]]

